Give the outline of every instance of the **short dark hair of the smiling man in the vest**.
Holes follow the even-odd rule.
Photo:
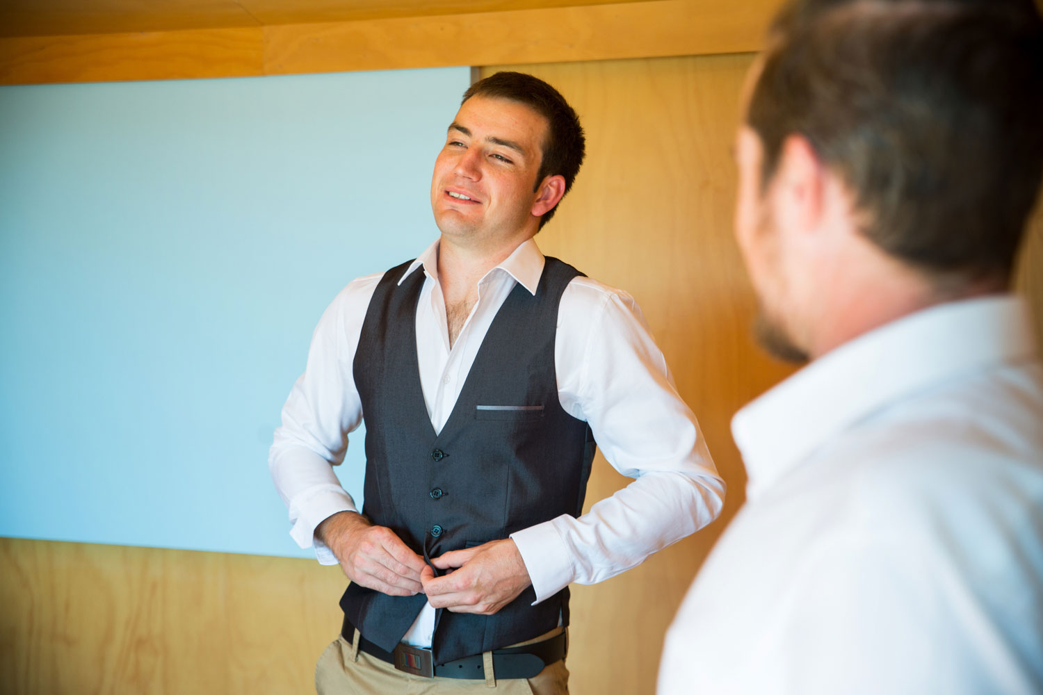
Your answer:
[[[542,143],[536,188],[544,177],[560,174],[565,179],[565,193],[568,193],[583,164],[586,139],[580,117],[565,98],[538,77],[520,72],[498,72],[475,82],[463,93],[461,103],[477,96],[516,101],[547,119],[547,138]],[[540,228],[554,217],[556,210],[557,205],[543,215],[539,221]]]

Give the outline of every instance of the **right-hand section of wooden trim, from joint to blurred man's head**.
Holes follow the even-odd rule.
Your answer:
[[[774,0],[661,0],[265,29],[269,74],[752,51]]]

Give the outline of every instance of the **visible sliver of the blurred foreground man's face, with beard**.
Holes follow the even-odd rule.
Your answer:
[[[790,294],[783,264],[784,239],[770,201],[770,183],[762,185],[763,148],[748,125],[735,141],[738,196],[735,203],[735,239],[760,304],[754,324],[757,342],[768,352],[787,362],[806,362],[807,353],[792,338],[785,306]]]

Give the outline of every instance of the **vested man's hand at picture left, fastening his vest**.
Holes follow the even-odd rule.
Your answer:
[[[423,557],[390,528],[374,526],[356,512],[338,512],[318,525],[315,537],[333,551],[355,584],[388,596],[414,596],[423,591]]]

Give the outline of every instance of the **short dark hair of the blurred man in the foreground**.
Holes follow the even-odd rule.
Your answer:
[[[1032,0],[796,0],[747,115],[804,136],[862,231],[938,278],[1009,281],[1043,174],[1043,23]]]

